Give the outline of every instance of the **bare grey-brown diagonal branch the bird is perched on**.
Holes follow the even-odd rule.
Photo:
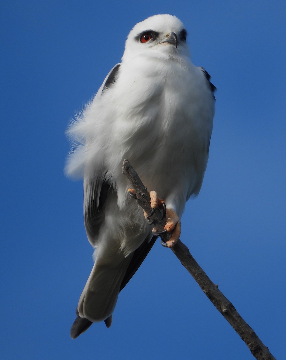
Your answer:
[[[143,185],[139,176],[131,166],[130,162],[125,159],[122,165],[122,172],[130,181],[132,188],[135,190],[137,196],[137,203],[147,212],[151,212],[150,196]],[[156,189],[149,189],[156,190]],[[157,209],[155,214],[151,217],[154,220],[154,225],[158,231],[162,231],[166,220],[161,220],[161,212]],[[169,240],[170,234],[162,235],[164,242]],[[239,334],[241,339],[246,343],[251,351],[251,354],[257,360],[275,360],[274,356],[269,352],[253,329],[242,319],[238,314],[232,303],[219,291],[218,286],[215,285],[210,278],[206,275],[204,270],[198,265],[196,260],[192,257],[189,249],[180,240],[171,249],[176,257],[180,260],[182,265],[186,267],[188,272],[196,280],[202,291],[214,304],[216,309],[224,316],[224,318],[231,324],[233,329]]]

